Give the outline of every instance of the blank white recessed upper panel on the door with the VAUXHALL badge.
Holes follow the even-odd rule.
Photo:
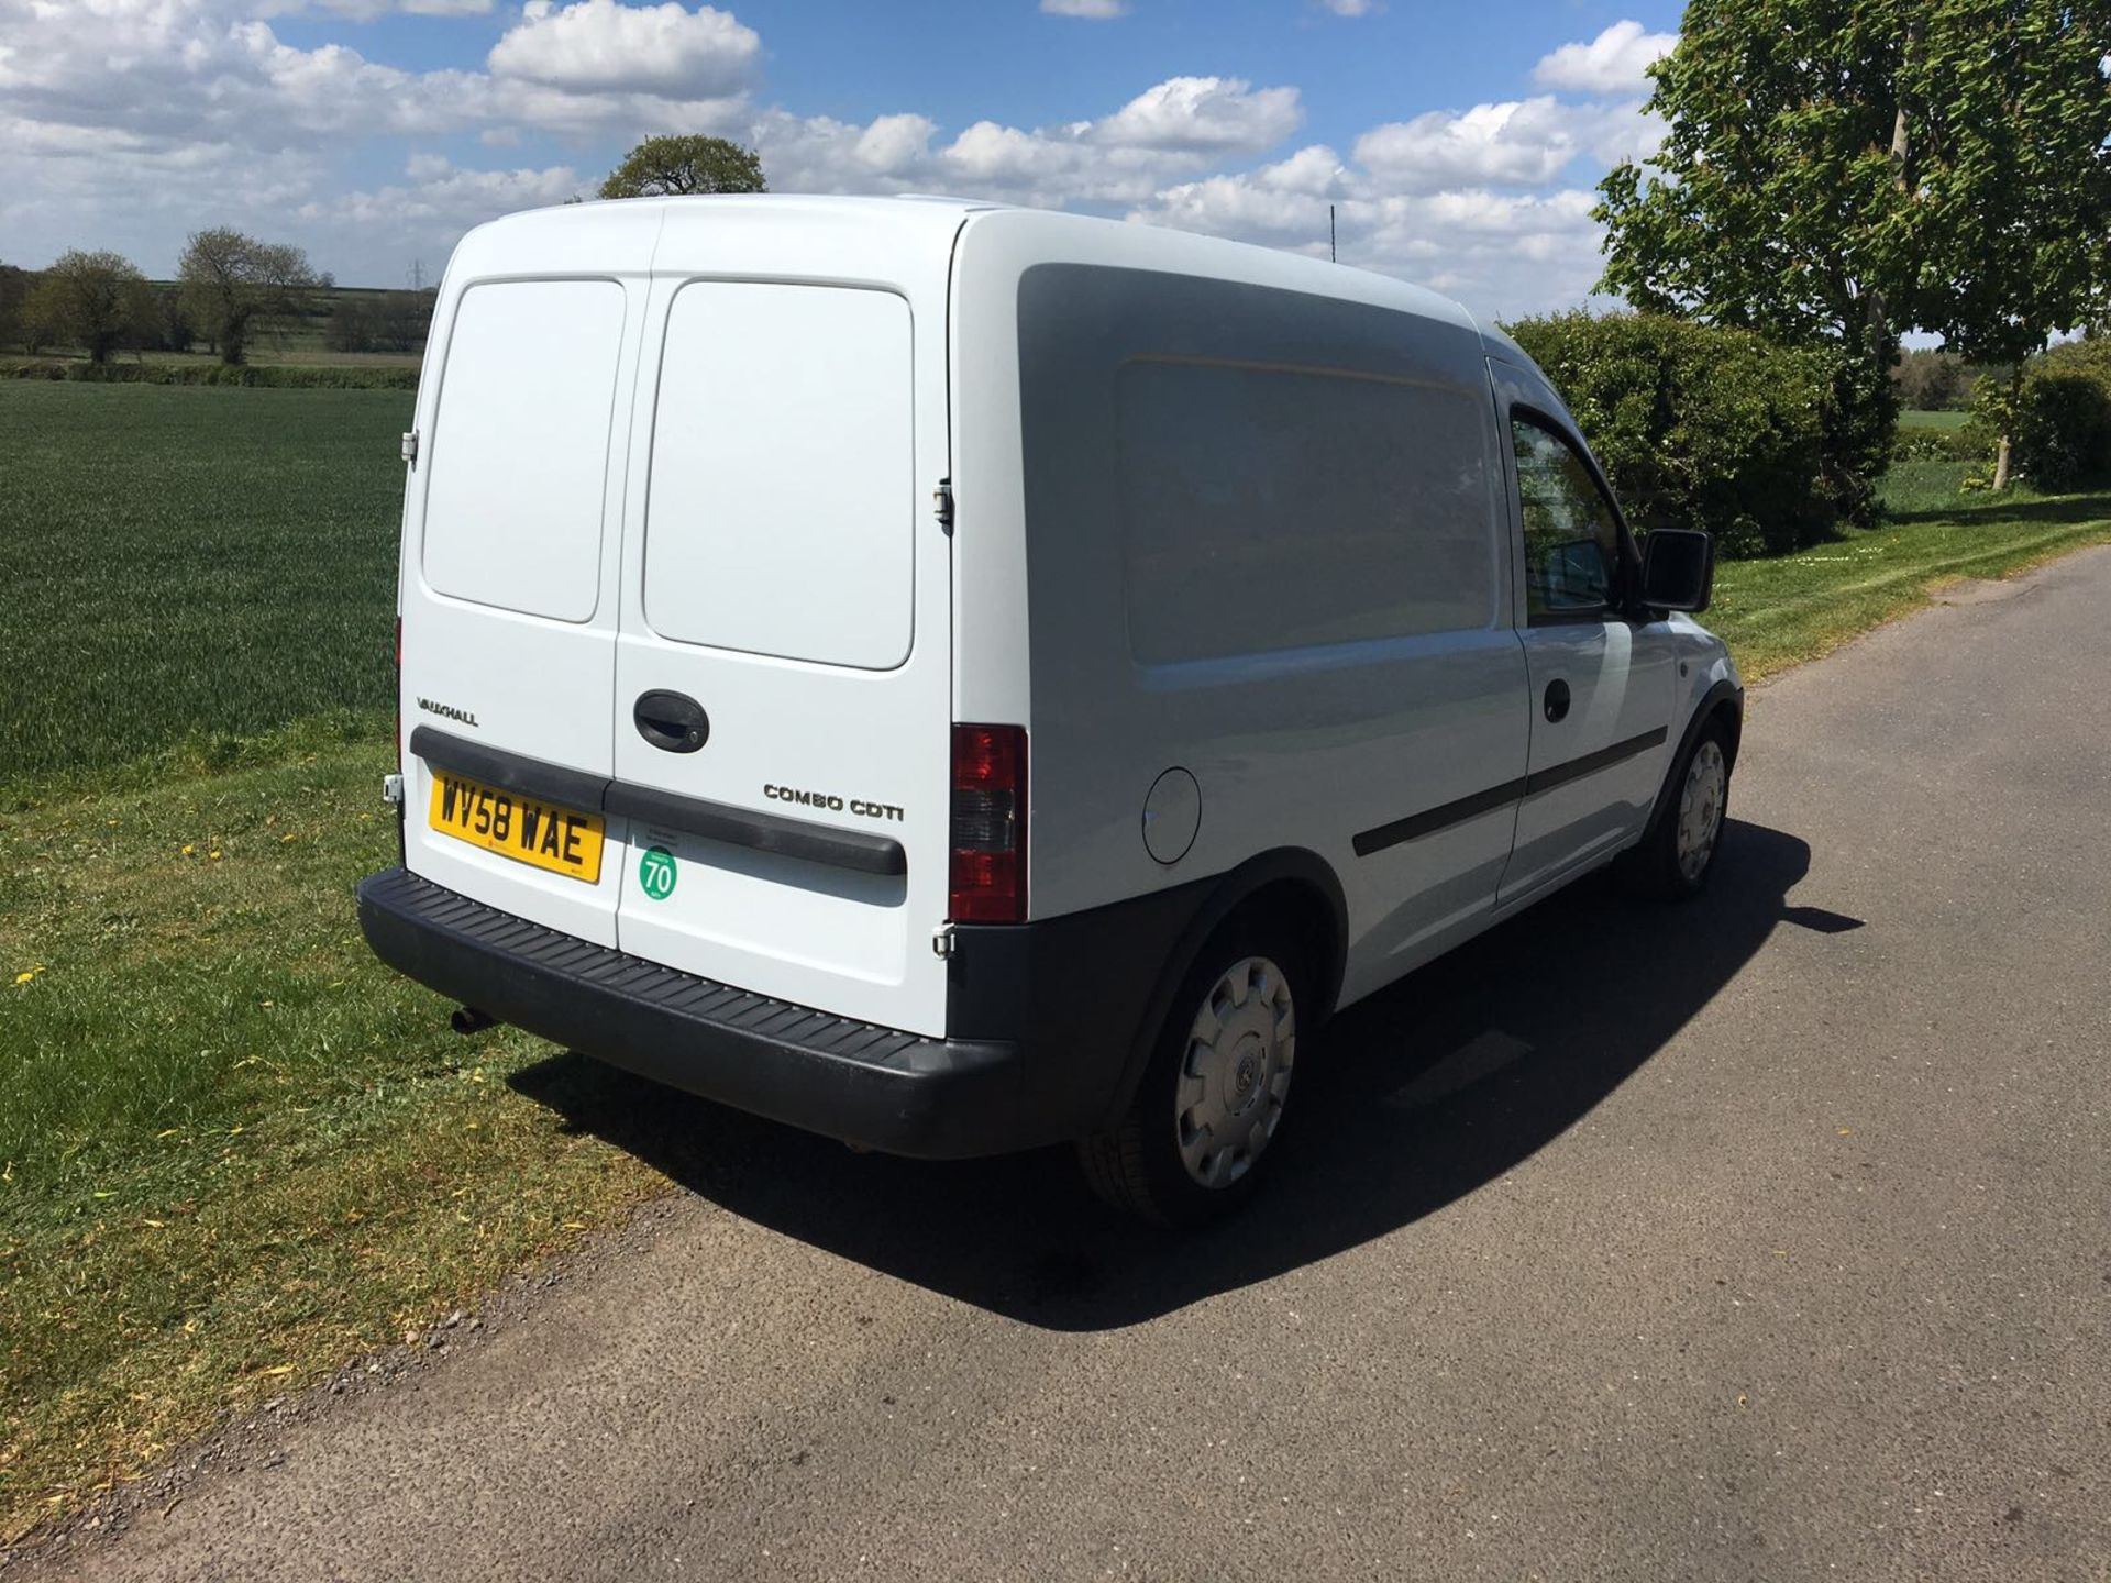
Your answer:
[[[426,445],[424,580],[439,593],[589,621],[623,287],[496,281],[462,293]]]

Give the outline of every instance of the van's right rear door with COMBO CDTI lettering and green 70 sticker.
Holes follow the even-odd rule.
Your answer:
[[[956,215],[671,205],[623,532],[627,954],[942,1034]]]

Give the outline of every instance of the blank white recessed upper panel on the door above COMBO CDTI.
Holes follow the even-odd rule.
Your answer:
[[[652,412],[652,629],[870,671],[908,659],[910,395],[910,308],[889,291],[684,285]]]

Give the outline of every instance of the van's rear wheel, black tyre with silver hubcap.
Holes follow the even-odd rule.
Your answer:
[[[1093,1190],[1174,1228],[1241,1205],[1281,1129],[1309,984],[1277,931],[1220,929],[1174,996],[1129,1114],[1079,1144]]]

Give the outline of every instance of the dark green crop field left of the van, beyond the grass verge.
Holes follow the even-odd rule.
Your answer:
[[[0,384],[0,806],[388,718],[412,397]]]

